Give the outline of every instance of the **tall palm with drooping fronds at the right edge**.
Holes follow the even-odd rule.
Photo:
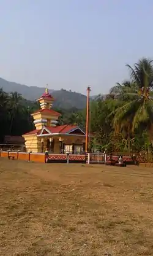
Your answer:
[[[132,133],[141,124],[145,124],[147,130],[149,130],[153,122],[152,61],[143,58],[134,65],[134,68],[132,68],[130,65],[127,65],[127,67],[130,71],[132,87],[129,88],[129,91],[125,90],[125,95],[130,96],[130,99],[116,110],[114,114],[113,126],[116,130],[116,128],[121,127],[122,123],[128,120],[131,124]],[[133,90],[135,90],[135,92],[133,92]]]

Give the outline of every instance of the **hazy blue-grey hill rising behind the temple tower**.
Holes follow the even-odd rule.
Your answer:
[[[45,90],[45,87],[28,87],[27,85],[21,85],[20,83],[9,82],[0,78],[0,88],[2,88],[7,93],[12,91],[17,91],[23,98],[30,101],[35,101]],[[81,93],[76,93],[75,91],[61,90],[49,90],[51,95],[56,99],[54,102],[54,107],[61,109],[84,109],[86,107],[86,96]]]

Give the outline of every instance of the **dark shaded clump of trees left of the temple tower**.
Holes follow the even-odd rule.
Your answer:
[[[0,141],[4,135],[21,135],[34,128],[31,112],[37,109],[35,103],[27,103],[20,94],[5,93],[0,89]]]

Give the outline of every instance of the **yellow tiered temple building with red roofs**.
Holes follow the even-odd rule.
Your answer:
[[[52,109],[54,98],[48,89],[37,101],[39,101],[40,109],[31,114],[34,118],[35,130],[23,134],[26,151],[83,153],[86,134],[76,125],[57,125],[61,114]]]

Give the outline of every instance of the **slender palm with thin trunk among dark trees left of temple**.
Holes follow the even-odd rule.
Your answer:
[[[10,133],[12,131],[12,125],[13,125],[13,120],[15,118],[15,114],[17,114],[18,107],[20,104],[21,100],[21,95],[20,93],[17,93],[17,91],[10,93],[10,107],[11,107],[11,123],[10,123]]]

